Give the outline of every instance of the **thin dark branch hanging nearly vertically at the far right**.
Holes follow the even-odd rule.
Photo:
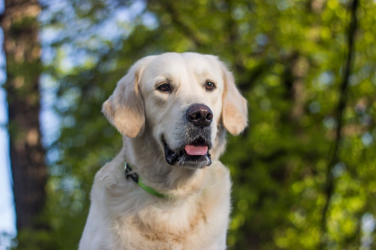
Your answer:
[[[338,100],[338,107],[337,107],[337,113],[336,113],[336,120],[337,120],[337,129],[335,133],[335,141],[334,145],[331,151],[330,161],[327,168],[326,173],[326,185],[325,185],[325,193],[326,193],[326,203],[324,206],[322,218],[321,218],[321,228],[323,231],[323,234],[326,232],[326,214],[327,210],[329,208],[330,200],[333,194],[334,190],[334,178],[333,178],[333,167],[335,163],[338,162],[338,148],[340,145],[341,140],[341,129],[343,127],[343,110],[346,106],[346,100],[347,100],[347,88],[349,85],[349,76],[351,72],[351,67],[353,63],[353,53],[354,53],[354,37],[355,37],[355,31],[357,27],[357,18],[356,18],[356,9],[358,7],[358,0],[354,0],[351,7],[351,21],[349,25],[348,30],[348,36],[347,36],[347,47],[348,47],[348,54],[346,57],[345,65],[344,65],[344,75],[342,78],[342,82],[340,85],[339,90],[339,100]],[[321,249],[323,246],[323,239],[321,239]]]

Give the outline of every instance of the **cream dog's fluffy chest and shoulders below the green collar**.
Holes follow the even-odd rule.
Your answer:
[[[96,175],[80,249],[225,249],[230,179],[220,162],[171,199],[145,192],[121,168],[115,158]]]

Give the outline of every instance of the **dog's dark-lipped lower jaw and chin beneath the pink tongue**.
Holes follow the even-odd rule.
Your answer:
[[[209,154],[209,148],[203,155],[190,155],[183,148],[181,150],[171,150],[167,142],[163,142],[165,159],[170,165],[181,166],[184,168],[197,169],[205,168],[211,165],[211,156]]]

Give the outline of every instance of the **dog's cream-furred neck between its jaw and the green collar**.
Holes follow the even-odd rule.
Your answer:
[[[152,138],[153,136],[147,131],[136,138],[123,137],[124,160],[143,178],[144,184],[158,192],[175,196],[194,192],[206,172],[205,168],[193,169],[168,165],[161,145]],[[212,149],[212,160],[217,160],[224,150],[224,136],[218,137],[218,140],[222,140],[221,143],[217,143],[221,147]]]

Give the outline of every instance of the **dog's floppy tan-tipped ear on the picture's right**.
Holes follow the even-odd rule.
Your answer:
[[[220,62],[223,71],[223,106],[222,122],[223,126],[232,135],[238,135],[248,124],[247,100],[240,94],[235,86],[235,80],[227,67]]]

